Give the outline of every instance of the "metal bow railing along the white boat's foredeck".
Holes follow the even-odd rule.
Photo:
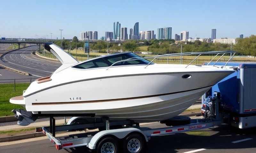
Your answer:
[[[230,53],[230,58],[228,60],[228,62],[234,57],[234,55],[236,54],[235,51],[211,51],[211,52],[194,52],[194,53],[174,53],[174,54],[164,54],[164,55],[157,55],[157,56],[148,56],[148,57],[132,57],[132,58],[128,58],[128,59],[125,59],[125,60],[120,60],[120,61],[117,61],[117,62],[114,62],[112,65],[110,65],[107,70],[109,68],[111,68],[112,66],[114,66],[116,63],[120,63],[120,62],[126,62],[126,61],[135,61],[135,60],[140,60],[140,59],[152,59],[146,66],[145,66],[145,69],[148,67],[148,65],[150,65],[155,59],[158,59],[158,58],[161,58],[161,57],[170,57],[170,56],[185,56],[185,55],[198,55],[196,56],[196,58],[194,58],[187,66],[185,66],[185,68],[187,68],[192,62],[194,62],[200,55],[207,55],[207,54],[217,54],[213,57],[213,59],[215,57],[217,57],[218,55],[221,55],[220,58],[212,65],[212,66],[215,66],[215,64],[227,53]],[[233,55],[232,55],[233,54]],[[213,59],[208,62],[207,65],[209,65]],[[226,68],[226,65],[228,64],[228,62],[226,62],[225,64],[225,68]]]

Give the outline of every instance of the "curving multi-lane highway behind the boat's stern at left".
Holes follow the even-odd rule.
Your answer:
[[[60,62],[54,62],[32,56],[31,53],[37,49],[37,46],[22,48],[5,54],[0,63],[5,66],[28,72],[37,77],[49,76],[58,69]]]

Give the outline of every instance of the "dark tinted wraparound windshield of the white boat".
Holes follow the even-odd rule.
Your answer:
[[[125,60],[133,57],[140,57],[134,53],[124,53],[124,54],[117,54],[117,55],[109,55],[109,56],[104,56],[100,58],[96,58],[87,62],[83,62],[81,64],[75,65],[72,68],[77,68],[77,69],[92,69],[92,68],[100,68],[100,67],[109,67],[113,63],[120,61],[120,60]],[[148,64],[149,61],[145,59],[138,59],[138,60],[133,60],[133,61],[124,61],[124,62],[118,62],[113,66],[121,66],[121,65],[137,65],[137,64]],[[151,62],[150,64],[154,64]]]

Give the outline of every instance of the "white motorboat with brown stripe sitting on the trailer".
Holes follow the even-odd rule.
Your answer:
[[[55,44],[45,43],[44,48],[62,65],[51,76],[32,82],[22,96],[10,99],[12,104],[26,108],[13,110],[17,118],[22,116],[20,121],[43,114],[106,116],[109,120],[133,120],[136,123],[166,120],[185,111],[214,84],[234,72],[224,66],[191,65],[195,59],[187,65],[153,62],[169,56],[199,54],[199,57],[203,54],[232,54],[233,51],[146,58],[121,52],[78,62]],[[28,122],[34,120],[36,118]]]

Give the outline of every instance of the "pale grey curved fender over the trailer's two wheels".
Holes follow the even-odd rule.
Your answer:
[[[113,130],[104,130],[100,131],[96,135],[94,135],[91,141],[88,144],[88,148],[95,149],[97,142],[105,135],[114,135],[119,139],[123,139],[125,136],[132,132],[139,132],[144,135],[146,142],[148,142],[148,137],[138,128],[122,128],[122,129],[113,129]]]

